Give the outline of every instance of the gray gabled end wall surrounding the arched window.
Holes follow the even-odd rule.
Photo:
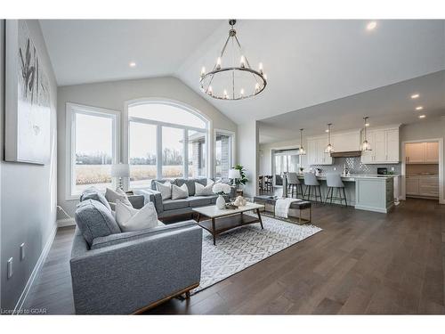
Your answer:
[[[175,100],[190,105],[199,110],[207,118],[211,119],[209,153],[213,157],[213,132],[214,128],[236,131],[236,125],[231,119],[225,117],[213,105],[206,102],[199,94],[196,94],[175,77],[155,77],[137,80],[121,80],[96,84],[76,86],[61,86],[58,91],[58,204],[64,208],[70,216],[74,215],[77,200],[66,200],[66,103],[74,102],[88,106],[105,108],[109,110],[123,111],[125,102],[139,98],[164,98]],[[123,118],[121,119],[123,120]],[[124,134],[124,132],[122,132]],[[125,159],[124,150],[121,148],[121,157]],[[211,161],[213,166],[213,161]],[[61,213],[59,219],[66,218]]]

